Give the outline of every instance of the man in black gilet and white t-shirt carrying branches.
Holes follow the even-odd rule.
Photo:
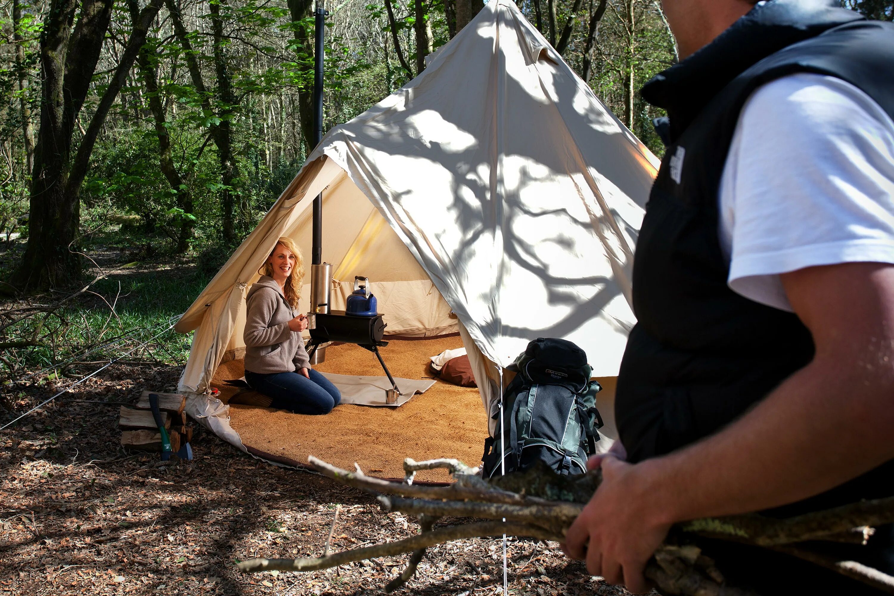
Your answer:
[[[637,243],[625,449],[592,462],[564,545],[633,592],[679,521],[894,495],[894,26],[808,0],[662,4],[682,62],[643,89],[671,145]],[[873,540],[848,558],[892,573],[890,530]]]

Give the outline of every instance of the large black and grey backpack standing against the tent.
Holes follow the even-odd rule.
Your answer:
[[[501,432],[505,471],[524,470],[541,459],[559,474],[584,474],[603,425],[596,410],[598,382],[586,353],[571,341],[538,338],[513,365],[516,377],[503,392],[496,432],[485,441],[485,478],[501,474]]]

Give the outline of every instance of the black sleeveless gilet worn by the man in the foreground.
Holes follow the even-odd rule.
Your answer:
[[[894,117],[894,25],[815,1],[772,0],[643,88],[670,115],[671,145],[637,240],[637,325],[616,393],[631,461],[717,431],[814,356],[796,315],[730,290],[718,239],[721,174],[742,105],[795,72],[846,80]]]

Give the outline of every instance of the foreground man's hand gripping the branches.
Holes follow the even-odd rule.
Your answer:
[[[609,454],[591,457],[587,466],[602,467],[603,482],[569,528],[562,550],[571,558],[586,558],[587,570],[608,583],[647,592],[645,563],[671,527],[659,519],[649,466],[632,466]]]

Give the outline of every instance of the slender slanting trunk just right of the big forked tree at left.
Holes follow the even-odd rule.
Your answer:
[[[139,5],[137,0],[128,0],[128,6],[131,9],[131,21],[134,29],[136,29],[137,23],[139,23]],[[149,111],[152,113],[153,122],[156,125],[158,164],[164,174],[164,178],[176,194],[177,207],[183,212],[180,214],[180,231],[177,234],[177,252],[182,254],[189,250],[190,239],[192,238],[192,197],[190,197],[189,187],[183,182],[180,172],[177,172],[177,167],[173,163],[171,136],[168,134],[164,105],[158,92],[156,64],[154,56],[150,53],[154,53],[154,47],[144,45],[137,56],[137,63],[143,78],[143,85],[146,87]]]

